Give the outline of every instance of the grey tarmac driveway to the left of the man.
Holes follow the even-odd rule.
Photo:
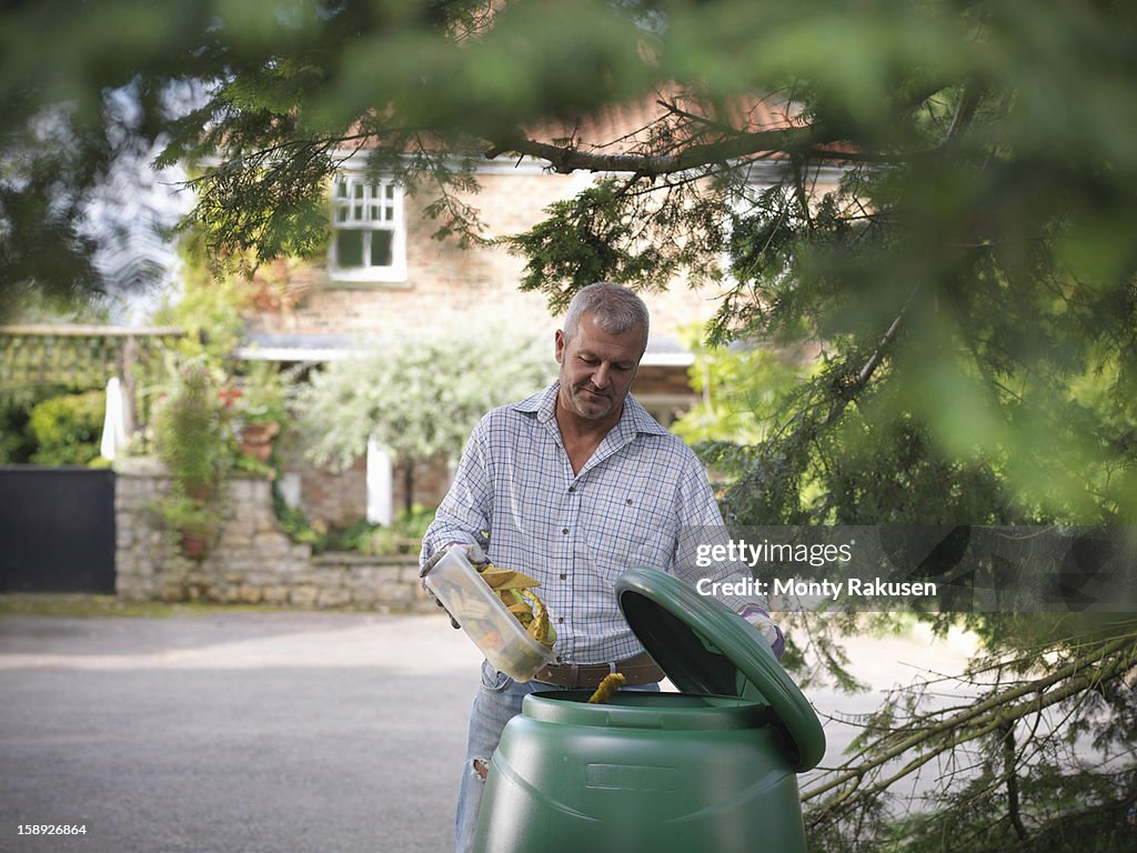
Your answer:
[[[442,615],[0,618],[0,851],[447,851],[479,661]]]

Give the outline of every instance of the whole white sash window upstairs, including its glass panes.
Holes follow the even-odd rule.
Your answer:
[[[332,182],[332,232],[329,272],[333,279],[406,280],[400,187],[364,174],[338,174]]]

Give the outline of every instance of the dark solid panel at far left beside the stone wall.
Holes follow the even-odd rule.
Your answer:
[[[0,466],[0,593],[114,591],[114,472]]]

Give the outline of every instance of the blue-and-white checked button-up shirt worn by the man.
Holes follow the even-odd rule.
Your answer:
[[[455,481],[423,540],[425,563],[450,543],[476,543],[490,562],[540,581],[565,663],[644,651],[616,605],[633,565],[700,578],[749,578],[745,565],[698,569],[694,545],[724,541],[706,473],[691,449],[629,395],[619,423],[573,474],[555,417],[558,383],[493,409],[471,434]],[[736,611],[763,596],[722,597]]]

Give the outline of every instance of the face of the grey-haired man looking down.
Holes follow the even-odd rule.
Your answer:
[[[609,334],[595,314],[586,314],[572,340],[565,340],[562,331],[556,334],[561,405],[589,421],[619,413],[642,354],[644,333],[639,329]]]

